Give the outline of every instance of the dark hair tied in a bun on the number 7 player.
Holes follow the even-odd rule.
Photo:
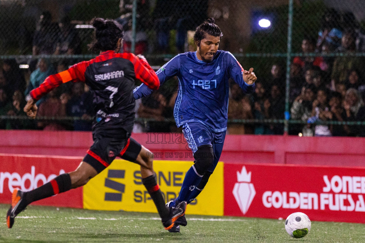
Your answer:
[[[93,18],[91,24],[95,27],[93,41],[88,45],[89,50],[109,51],[115,50],[119,38],[123,38],[123,27],[115,20]]]

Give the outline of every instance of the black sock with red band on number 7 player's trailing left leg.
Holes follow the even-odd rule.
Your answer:
[[[50,182],[32,191],[24,193],[24,202],[28,205],[34,201],[41,200],[71,189],[71,177],[68,173],[61,174]]]

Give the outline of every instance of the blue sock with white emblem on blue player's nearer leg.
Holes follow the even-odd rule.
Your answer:
[[[175,201],[187,201],[189,203],[189,195],[192,191],[195,191],[194,189],[200,183],[201,177],[197,174],[194,165],[192,165],[185,175],[179,196]]]

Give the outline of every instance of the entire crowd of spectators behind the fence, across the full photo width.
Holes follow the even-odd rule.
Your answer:
[[[204,1],[201,1],[202,3]],[[130,49],[132,1],[120,1],[123,13],[117,20],[126,32],[124,51]],[[175,4],[175,5],[174,5]],[[162,52],[167,48],[170,30],[176,29],[176,45],[184,51],[182,40],[186,32],[200,20],[191,15],[174,15],[165,8],[177,6],[157,0],[154,26],[157,46]],[[206,5],[206,3],[203,3]],[[181,5],[181,4],[180,4]],[[194,4],[186,4],[192,6]],[[185,6],[185,5],[184,5]],[[138,1],[139,21],[143,11],[149,10],[148,1]],[[166,15],[161,15],[165,12]],[[184,11],[183,11],[184,12]],[[188,11],[187,11],[188,12]],[[153,14],[152,14],[153,15]],[[203,17],[204,18],[204,17]],[[60,23],[53,23],[49,12],[39,18],[33,37],[33,54],[79,54],[81,40],[70,20],[66,17]],[[146,22],[146,21],[143,21]],[[190,24],[188,24],[190,23]],[[146,48],[147,36],[143,24],[138,24],[137,52]],[[181,26],[184,26],[182,28]],[[129,33],[129,34],[128,34]],[[179,40],[179,38],[181,38]],[[129,43],[128,43],[129,42]],[[301,120],[291,124],[289,134],[303,136],[365,136],[365,126],[319,125],[316,121],[365,121],[365,80],[364,58],[354,56],[365,51],[365,35],[352,13],[339,15],[330,9],[323,15],[318,36],[302,40],[303,54],[338,52],[338,56],[303,55],[293,58],[290,72],[289,110],[290,117]],[[25,116],[25,97],[38,87],[46,77],[66,70],[74,61],[70,59],[51,61],[47,58],[32,60],[27,70],[19,68],[15,59],[5,59],[0,66],[0,115]],[[29,74],[28,74],[29,73]],[[242,125],[246,119],[284,119],[285,111],[285,68],[274,63],[268,75],[257,70],[258,81],[254,94],[245,95],[242,89],[230,81],[228,103],[229,134],[283,134],[282,123],[252,123]],[[261,76],[261,77],[260,77]],[[27,77],[27,78],[25,78]],[[26,81],[27,79],[27,81]],[[136,117],[150,119],[136,122],[134,132],[175,132],[173,107],[177,94],[177,80],[172,78],[160,90],[149,97],[136,101]],[[95,115],[92,93],[84,83],[65,83],[37,102],[39,117],[79,117],[70,120],[0,119],[0,129],[43,129],[43,130],[91,130],[91,118]],[[303,125],[305,123],[305,125]]]

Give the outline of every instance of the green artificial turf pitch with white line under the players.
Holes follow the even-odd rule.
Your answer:
[[[8,229],[8,207],[0,204],[0,242],[365,242],[365,224],[312,222],[307,236],[293,239],[284,220],[187,215],[181,233],[169,233],[155,213],[32,205]]]

